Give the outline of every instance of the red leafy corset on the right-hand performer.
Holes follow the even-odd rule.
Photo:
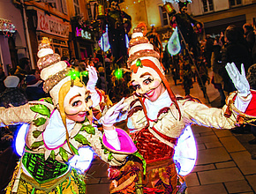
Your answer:
[[[137,141],[135,145],[147,163],[173,157],[174,149],[155,138],[148,128],[132,133],[132,138]]]

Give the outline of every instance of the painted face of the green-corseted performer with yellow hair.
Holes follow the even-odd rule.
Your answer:
[[[75,122],[83,122],[93,105],[90,98],[86,87],[72,86],[64,98],[66,117]]]

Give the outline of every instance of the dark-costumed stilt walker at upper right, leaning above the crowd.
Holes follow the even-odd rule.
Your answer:
[[[192,48],[193,56],[196,59],[200,56],[200,43],[198,41],[198,34],[195,33],[193,26],[201,30],[202,24],[187,13],[187,4],[187,1],[178,2],[179,12],[170,16],[169,25],[174,28],[178,26],[180,33],[184,37],[184,41],[188,44],[189,49]]]

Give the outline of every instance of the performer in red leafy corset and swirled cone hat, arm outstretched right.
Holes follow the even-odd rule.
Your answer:
[[[243,65],[240,74],[234,63],[228,63],[226,69],[238,92],[230,95],[222,109],[208,108],[192,97],[177,98],[164,76],[159,54],[140,28],[133,29],[129,47],[127,63],[135,93],[124,100],[127,106],[117,120],[127,119],[144,160],[133,154],[124,166],[109,168],[110,193],[184,193],[184,178],[177,175],[173,155],[186,126],[231,129],[251,122],[256,118],[255,91],[250,91]]]

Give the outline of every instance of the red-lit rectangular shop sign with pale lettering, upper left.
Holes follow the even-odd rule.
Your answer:
[[[42,11],[37,11],[37,19],[37,30],[68,38],[70,27],[68,22],[64,22],[63,19],[57,19],[54,16],[46,15]]]

